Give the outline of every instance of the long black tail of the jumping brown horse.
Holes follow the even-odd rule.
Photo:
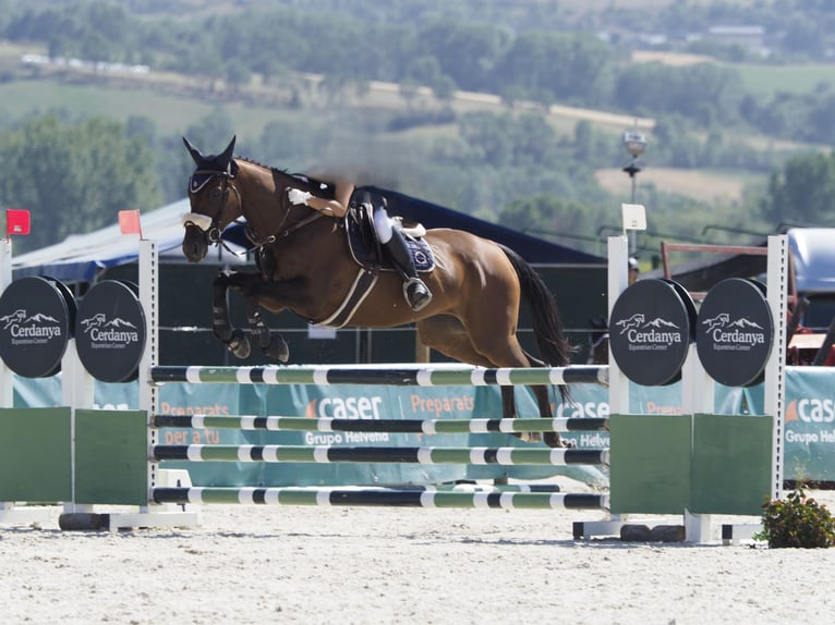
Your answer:
[[[566,338],[554,294],[540,278],[540,274],[521,256],[509,247],[500,244],[499,247],[507,255],[519,277],[522,296],[528,303],[533,318],[533,334],[536,338],[540,357],[545,361],[545,365],[552,367],[567,366],[571,360],[570,354],[573,350]],[[564,400],[570,396],[568,387],[561,385],[559,392]]]

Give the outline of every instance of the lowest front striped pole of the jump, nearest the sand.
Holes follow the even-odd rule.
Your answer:
[[[608,510],[608,495],[548,492],[450,492],[433,489],[347,488],[155,488],[155,503],[266,505],[380,505],[528,510]]]

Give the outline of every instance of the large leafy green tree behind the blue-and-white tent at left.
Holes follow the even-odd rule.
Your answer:
[[[58,113],[0,133],[0,159],[14,175],[0,180],[5,206],[32,211],[32,249],[116,222],[119,210],[159,205],[154,161],[145,142],[102,118],[70,124]]]

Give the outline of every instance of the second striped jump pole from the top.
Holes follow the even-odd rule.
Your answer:
[[[519,419],[337,419],[310,417],[221,417],[154,415],[155,428],[233,429],[306,432],[397,432],[422,434],[606,431],[606,418]]]

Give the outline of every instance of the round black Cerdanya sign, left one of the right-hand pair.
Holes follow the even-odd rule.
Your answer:
[[[620,294],[612,309],[612,356],[637,384],[671,384],[681,379],[695,316],[693,301],[680,284],[639,280]]]

